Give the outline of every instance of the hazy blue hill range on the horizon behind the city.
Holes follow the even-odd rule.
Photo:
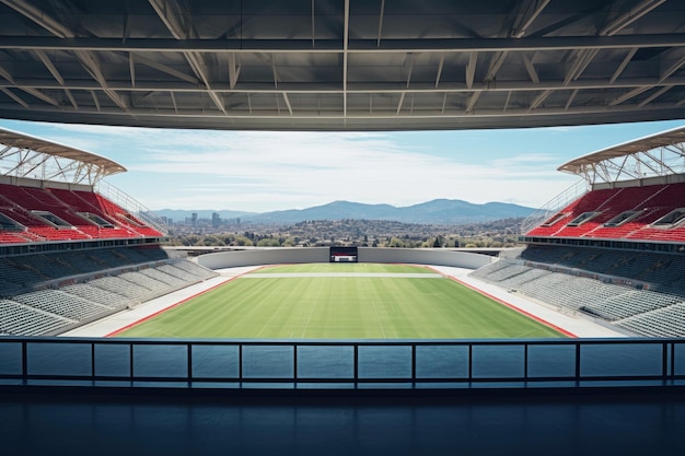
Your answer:
[[[155,211],[155,213],[165,215],[175,221],[185,220],[185,218],[191,217],[193,212],[197,212],[200,219],[211,219],[212,212],[219,212],[222,219],[241,218],[241,222],[264,224],[290,224],[305,220],[356,219],[451,225],[527,217],[534,210],[534,208],[507,202],[474,204],[458,199],[436,199],[405,208],[397,208],[391,204],[364,204],[350,201],[334,201],[307,209],[290,209],[264,213],[212,210],[183,211],[169,209]]]

